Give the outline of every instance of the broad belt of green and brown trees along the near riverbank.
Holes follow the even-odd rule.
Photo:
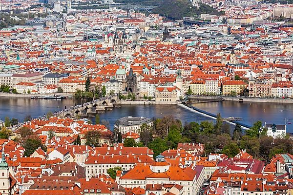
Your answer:
[[[114,131],[114,134],[118,132]],[[119,135],[116,136],[116,138]],[[121,139],[117,139],[121,142]],[[270,162],[272,156],[278,153],[293,154],[293,140],[289,137],[275,138],[266,135],[266,129],[261,121],[256,121],[253,126],[243,131],[240,125],[234,127],[223,122],[220,114],[216,121],[189,122],[184,125],[171,116],[157,118],[154,126],[145,124],[140,129],[140,143],[135,143],[132,138],[124,140],[125,146],[147,146],[157,156],[168,149],[176,149],[179,142],[205,144],[205,154],[225,154],[233,157],[240,150],[246,150],[251,156]]]

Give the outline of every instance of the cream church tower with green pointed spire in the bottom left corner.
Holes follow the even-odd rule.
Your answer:
[[[2,159],[0,162],[0,193],[2,195],[9,195],[10,192],[9,169],[4,152],[2,152]]]

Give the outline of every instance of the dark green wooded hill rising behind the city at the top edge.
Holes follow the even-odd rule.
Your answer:
[[[206,4],[200,4],[200,7],[197,9],[191,6],[189,0],[163,0],[163,2],[152,11],[175,20],[182,20],[183,17],[198,17],[201,14],[224,14]]]

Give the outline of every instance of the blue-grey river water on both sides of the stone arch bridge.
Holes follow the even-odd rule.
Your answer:
[[[30,115],[31,117],[44,116],[47,112],[55,112],[80,104],[86,100],[67,99],[30,99],[30,98],[0,98],[0,119],[15,117],[20,121]],[[267,123],[284,124],[285,118],[293,122],[293,104],[284,103],[254,103],[223,101],[193,104],[196,108],[212,114],[221,113],[222,117],[242,117],[243,123],[253,124],[257,120]],[[282,112],[281,112],[282,111]],[[172,115],[184,124],[185,122],[213,120],[186,108],[183,105],[122,105],[100,115],[101,120],[108,120],[110,128],[113,129],[114,122],[120,117],[164,117]],[[94,117],[90,118],[94,121]],[[293,132],[293,124],[287,125],[288,132]]]

